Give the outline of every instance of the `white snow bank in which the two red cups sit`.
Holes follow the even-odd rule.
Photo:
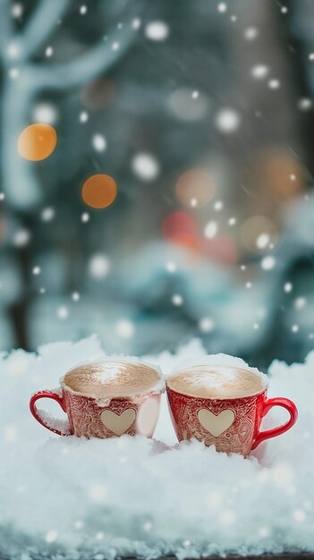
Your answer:
[[[30,395],[101,353],[93,336],[0,355],[0,556],[314,550],[314,352],[305,364],[272,364],[269,395],[292,398],[300,416],[249,459],[196,441],[178,445],[165,395],[155,439],[84,440],[42,428],[30,415]],[[198,341],[147,359],[169,373],[191,354],[205,354]],[[268,424],[283,421],[281,412]]]

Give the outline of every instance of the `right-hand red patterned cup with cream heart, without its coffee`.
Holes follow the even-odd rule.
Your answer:
[[[298,417],[295,404],[283,397],[268,398],[267,387],[256,395],[213,399],[183,395],[166,386],[169,409],[179,441],[195,437],[217,451],[250,454],[262,441],[280,436]],[[281,406],[290,418],[282,426],[260,431],[261,420],[273,406]]]

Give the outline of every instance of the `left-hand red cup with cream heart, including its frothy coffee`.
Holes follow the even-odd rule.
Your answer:
[[[157,424],[164,379],[157,368],[135,358],[106,357],[67,371],[57,391],[39,391],[30,399],[30,412],[47,429],[61,436],[151,437]],[[60,420],[39,411],[37,401],[50,398],[68,416]]]

